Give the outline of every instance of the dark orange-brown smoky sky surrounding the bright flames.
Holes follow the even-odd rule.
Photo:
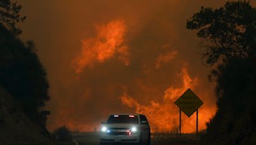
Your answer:
[[[207,80],[211,68],[202,66],[199,39],[195,32],[186,29],[186,21],[201,6],[218,8],[225,1],[19,0],[18,3],[22,5],[22,14],[27,15],[21,24],[21,38],[35,41],[51,86],[51,100],[45,107],[51,110],[47,120],[49,130],[67,125],[90,131],[106,120],[108,114],[136,111],[122,103],[120,97],[124,93],[145,106],[151,101],[161,104],[166,89],[182,86],[183,67],[191,78],[198,79],[195,92],[204,100],[203,107],[214,114],[214,84]],[[255,6],[255,1],[251,3]],[[83,50],[91,49],[84,48],[82,42],[97,44],[97,40],[101,41],[97,39],[99,27],[107,27],[115,20],[125,25],[121,43],[127,46],[129,64],[120,62],[115,52],[102,62],[91,61],[92,65],[77,74],[72,61]],[[175,55],[168,57],[173,52]],[[156,67],[161,56],[165,57]]]

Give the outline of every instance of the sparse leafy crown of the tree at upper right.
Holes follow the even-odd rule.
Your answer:
[[[205,48],[205,62],[212,65],[220,59],[254,57],[255,19],[256,10],[249,2],[227,2],[216,10],[202,7],[189,18],[187,29],[197,30]]]

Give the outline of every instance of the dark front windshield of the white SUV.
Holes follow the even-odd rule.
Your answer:
[[[107,123],[139,123],[137,115],[111,115]]]

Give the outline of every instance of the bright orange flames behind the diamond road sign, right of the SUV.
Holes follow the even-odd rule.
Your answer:
[[[188,88],[193,89],[198,83],[197,78],[192,79],[189,76],[186,67],[182,68],[182,81],[182,87],[175,88],[171,86],[165,90],[163,102],[151,101],[150,105],[145,106],[140,104],[131,96],[127,95],[127,93],[124,93],[120,99],[122,100],[123,104],[129,107],[135,107],[136,113],[143,113],[147,115],[152,132],[175,132],[179,127],[179,108],[175,106],[174,102]],[[202,100],[204,101],[204,99]],[[212,118],[214,113],[214,108],[207,108],[204,107],[204,105],[199,109],[198,130],[203,130],[206,128],[205,123],[209,121],[209,118]],[[188,118],[184,113],[182,113],[182,133],[195,132],[195,123],[195,114],[193,114],[191,118]]]

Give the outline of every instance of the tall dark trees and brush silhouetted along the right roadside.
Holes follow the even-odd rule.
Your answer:
[[[196,30],[205,65],[216,68],[218,110],[207,123],[204,139],[212,143],[255,144],[256,135],[256,9],[250,1],[227,2],[213,10],[202,7],[189,18]]]

